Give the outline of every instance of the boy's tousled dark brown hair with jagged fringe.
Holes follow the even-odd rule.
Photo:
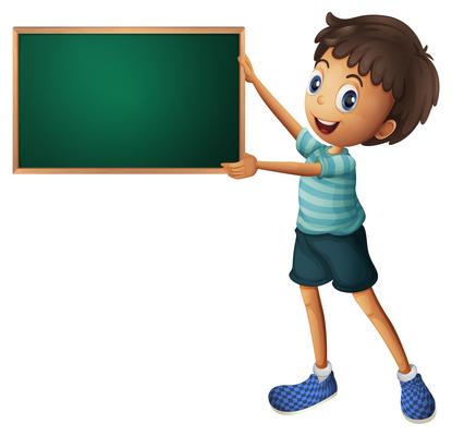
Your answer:
[[[320,31],[314,60],[317,62],[332,47],[335,59],[349,58],[347,65],[358,64],[361,75],[370,72],[374,85],[391,90],[394,106],[388,116],[396,122],[386,140],[372,137],[364,145],[395,144],[406,137],[420,121],[424,124],[438,102],[437,70],[416,34],[400,20],[384,15],[363,15],[349,20],[327,14],[328,27]]]

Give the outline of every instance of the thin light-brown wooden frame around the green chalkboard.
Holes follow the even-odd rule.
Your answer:
[[[14,27],[13,28],[13,173],[225,173],[223,168],[21,168],[19,166],[19,35],[21,34],[239,34],[245,55],[244,27]],[[245,74],[239,78],[239,156],[245,154]]]

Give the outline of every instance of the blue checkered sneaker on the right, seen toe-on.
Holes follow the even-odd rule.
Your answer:
[[[413,422],[430,421],[435,415],[435,398],[425,385],[420,374],[408,382],[400,382],[401,405],[405,417]]]

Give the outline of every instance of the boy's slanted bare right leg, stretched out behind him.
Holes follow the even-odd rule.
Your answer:
[[[391,320],[388,318],[383,308],[377,300],[371,288],[365,291],[354,292],[353,296],[359,304],[361,308],[368,316],[378,330],[383,341],[391,351],[395,362],[399,366],[399,371],[402,374],[407,374],[411,371],[408,360],[406,359],[405,351],[403,350],[402,342],[399,339],[398,332]]]

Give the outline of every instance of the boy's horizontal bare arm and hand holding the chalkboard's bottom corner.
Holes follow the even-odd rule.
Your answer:
[[[295,175],[320,175],[321,165],[304,162],[264,162],[257,160],[253,155],[245,154],[239,162],[223,162],[221,166],[233,179],[245,179],[254,175],[258,169]]]

